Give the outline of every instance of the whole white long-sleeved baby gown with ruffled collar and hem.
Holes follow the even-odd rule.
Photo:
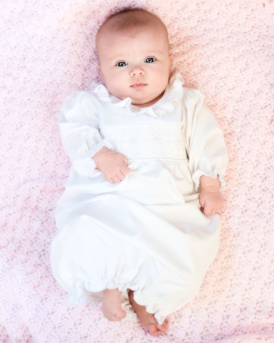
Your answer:
[[[219,216],[200,211],[199,179],[227,165],[223,134],[203,94],[175,73],[149,107],[120,100],[103,85],[69,95],[60,130],[73,167],[58,203],[51,245],[57,281],[74,299],[127,290],[156,320],[198,292],[220,239]],[[91,158],[101,147],[122,153],[131,169],[110,183]]]

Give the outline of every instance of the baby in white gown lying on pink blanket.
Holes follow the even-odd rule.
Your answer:
[[[167,30],[123,9],[101,25],[104,85],[67,97],[61,137],[73,163],[51,248],[59,283],[76,298],[102,293],[108,320],[129,314],[164,332],[198,292],[219,246],[222,132],[203,95],[171,77]]]

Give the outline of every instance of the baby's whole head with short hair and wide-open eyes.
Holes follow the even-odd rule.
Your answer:
[[[132,104],[157,102],[169,82],[172,54],[163,22],[142,9],[125,9],[104,21],[96,36],[98,69],[109,92]]]

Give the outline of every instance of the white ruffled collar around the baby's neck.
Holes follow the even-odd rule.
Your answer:
[[[167,87],[165,88],[164,94],[157,103],[148,106],[148,107],[139,107],[131,104],[131,99],[126,98],[124,100],[118,99],[115,96],[109,94],[107,88],[94,81],[91,85],[91,92],[97,96],[99,100],[111,103],[117,107],[125,107],[127,110],[135,113],[146,113],[152,117],[161,118],[162,116],[169,116],[173,110],[173,102],[179,100],[183,97],[183,87],[185,83],[182,75],[178,72],[175,72],[171,78]]]

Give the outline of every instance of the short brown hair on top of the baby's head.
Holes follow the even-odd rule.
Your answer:
[[[144,15],[145,14],[145,15]],[[148,20],[148,16],[151,17],[151,20]],[[165,24],[161,19],[147,10],[139,7],[123,7],[114,12],[112,12],[100,26],[96,40],[100,37],[104,28],[109,29],[110,31],[126,31],[130,29],[138,29],[139,27],[147,26],[151,21],[159,23],[167,36],[167,29]],[[168,41],[168,36],[167,36]]]

